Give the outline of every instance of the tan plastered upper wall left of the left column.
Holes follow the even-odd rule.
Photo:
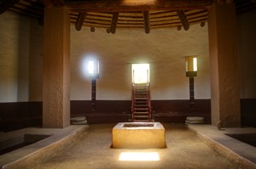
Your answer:
[[[0,27],[0,102],[42,100],[43,27],[10,12]]]

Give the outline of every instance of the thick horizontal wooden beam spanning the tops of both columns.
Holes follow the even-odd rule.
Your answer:
[[[148,10],[207,9],[215,0],[66,0],[70,12],[134,12]]]

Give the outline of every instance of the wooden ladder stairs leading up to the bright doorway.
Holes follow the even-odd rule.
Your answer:
[[[149,83],[133,83],[131,121],[153,121],[151,112]]]

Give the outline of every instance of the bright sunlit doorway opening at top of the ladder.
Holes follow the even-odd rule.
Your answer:
[[[132,84],[142,84],[150,82],[149,64],[132,64],[131,81]]]

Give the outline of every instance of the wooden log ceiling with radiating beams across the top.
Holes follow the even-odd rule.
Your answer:
[[[231,0],[0,0],[0,14],[6,10],[44,19],[44,8],[66,6],[71,24],[77,31],[83,26],[118,29],[152,29],[177,27],[189,30],[189,25],[207,22],[207,8],[214,2]],[[234,0],[237,11],[255,8],[253,0]]]

